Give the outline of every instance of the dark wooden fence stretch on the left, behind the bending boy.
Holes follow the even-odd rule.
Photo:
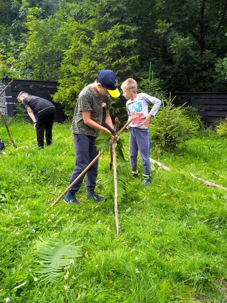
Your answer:
[[[0,84],[0,91],[10,82],[11,79],[3,79]],[[63,122],[66,116],[60,104],[52,101],[51,95],[57,90],[58,82],[55,81],[34,81],[34,80],[14,80],[7,90],[0,96],[0,109],[6,116],[13,116],[16,112],[16,104],[18,104],[17,96],[20,91],[27,91],[29,94],[42,97],[52,102],[56,108],[55,121]],[[27,113],[27,111],[25,111]]]

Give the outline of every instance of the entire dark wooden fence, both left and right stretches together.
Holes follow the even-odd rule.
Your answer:
[[[10,79],[3,79],[0,90],[9,82]],[[17,96],[22,90],[52,102],[51,95],[56,92],[57,87],[58,82],[55,81],[14,80],[3,96],[0,96],[0,109],[5,116],[13,116],[16,108],[15,104],[18,103]],[[176,96],[174,100],[176,106],[185,104],[185,106],[196,108],[198,114],[202,116],[202,121],[207,125],[218,118],[227,117],[227,92],[176,92],[172,93],[172,97],[174,96]],[[65,121],[66,116],[61,105],[53,104],[56,108],[55,121]]]

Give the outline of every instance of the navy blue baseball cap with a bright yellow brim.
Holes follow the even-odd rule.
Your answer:
[[[100,70],[97,74],[97,81],[108,90],[108,93],[113,98],[120,96],[120,91],[117,88],[118,78],[112,71]]]

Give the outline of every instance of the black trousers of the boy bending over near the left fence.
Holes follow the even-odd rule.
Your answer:
[[[49,107],[40,111],[37,114],[36,136],[38,147],[43,147],[44,145],[44,131],[46,137],[46,144],[50,145],[52,143],[52,127],[55,111],[55,107]]]

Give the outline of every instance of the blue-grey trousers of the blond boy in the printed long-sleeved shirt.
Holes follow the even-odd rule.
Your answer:
[[[145,175],[150,174],[150,134],[147,128],[131,127],[129,140],[129,154],[132,171],[137,170],[138,150],[143,163]]]

